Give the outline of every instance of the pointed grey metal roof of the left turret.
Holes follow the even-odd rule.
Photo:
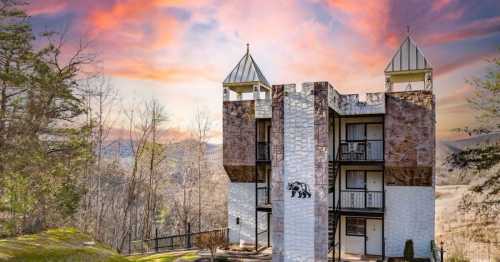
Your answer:
[[[261,82],[265,86],[270,86],[266,77],[260,71],[259,66],[255,63],[247,45],[247,52],[234,67],[233,71],[224,79],[223,84],[237,85],[252,82]]]

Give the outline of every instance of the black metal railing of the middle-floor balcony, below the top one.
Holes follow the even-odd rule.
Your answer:
[[[381,209],[384,208],[384,193],[382,191],[340,191],[340,208]]]

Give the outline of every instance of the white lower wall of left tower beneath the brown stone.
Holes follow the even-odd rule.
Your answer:
[[[229,241],[233,244],[255,244],[255,183],[230,183],[228,196]],[[236,218],[240,224],[236,224]],[[259,232],[267,228],[267,215],[259,212]],[[267,234],[259,236],[267,244]]]

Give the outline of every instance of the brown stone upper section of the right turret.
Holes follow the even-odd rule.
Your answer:
[[[432,91],[386,94],[387,185],[433,186],[435,103]]]

